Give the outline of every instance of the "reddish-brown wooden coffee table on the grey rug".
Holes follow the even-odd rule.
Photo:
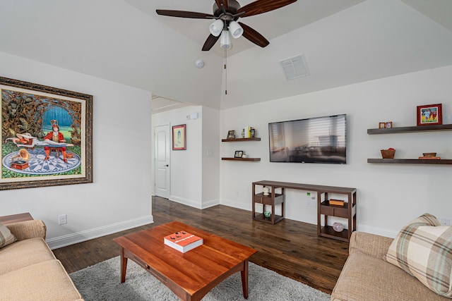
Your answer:
[[[187,231],[203,238],[203,245],[179,252],[163,243],[166,235]],[[248,298],[248,259],[257,251],[237,242],[173,221],[114,238],[121,246],[121,283],[127,259],[133,260],[172,290],[181,300],[201,300],[215,285],[240,271]]]

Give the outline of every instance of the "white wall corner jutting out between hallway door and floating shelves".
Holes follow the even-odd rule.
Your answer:
[[[198,113],[198,118],[187,120],[191,113]],[[199,209],[219,204],[219,115],[218,110],[203,106],[153,115],[153,127],[186,124],[186,150],[170,152],[169,199]]]

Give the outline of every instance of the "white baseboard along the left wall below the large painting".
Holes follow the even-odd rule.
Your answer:
[[[50,238],[46,240],[47,245],[50,249],[54,250],[59,247],[66,247],[67,245],[73,245],[78,242],[83,242],[86,240],[92,240],[93,238],[100,238],[101,236],[109,235],[112,233],[117,233],[119,231],[128,230],[130,228],[135,228],[148,223],[153,223],[154,217],[152,215],[143,216],[138,219],[131,219],[129,221],[121,221],[119,223],[112,223],[111,225],[106,225],[98,228],[93,228],[85,231],[80,231],[76,233],[71,233],[68,235],[62,235],[57,238]]]

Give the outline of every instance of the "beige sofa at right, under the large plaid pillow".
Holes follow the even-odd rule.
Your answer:
[[[383,260],[392,238],[354,232],[350,254],[340,273],[331,300],[449,300],[429,290],[417,278]]]

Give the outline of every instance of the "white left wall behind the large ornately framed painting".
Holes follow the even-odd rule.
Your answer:
[[[4,53],[0,65],[6,78],[93,95],[93,183],[2,190],[0,214],[42,219],[51,247],[153,222],[151,159],[137,157],[150,154],[150,92]]]

